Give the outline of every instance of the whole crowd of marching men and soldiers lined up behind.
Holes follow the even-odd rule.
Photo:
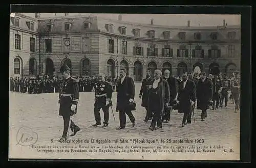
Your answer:
[[[135,85],[132,77],[127,76],[126,69],[119,70],[119,77],[107,77],[99,74],[92,77],[72,77],[72,68],[63,65],[60,68],[62,78],[48,75],[37,76],[36,78],[10,78],[10,91],[28,94],[37,93],[59,93],[59,115],[63,118],[63,133],[60,142],[68,138],[69,128],[71,136],[76,135],[80,128],[72,121],[77,113],[79,92],[94,92],[94,117],[96,123],[93,126],[101,125],[100,110],[103,111],[103,125],[110,125],[110,108],[113,113],[112,93],[117,92],[116,111],[119,113],[119,127],[126,126],[126,115],[129,117],[132,127],[135,127],[136,119],[133,111],[136,105],[145,107],[144,122],[148,124],[149,130],[158,130],[163,123],[172,121],[172,111],[178,110],[183,113],[181,127],[191,124],[194,118],[195,108],[201,110],[201,121],[207,118],[207,110],[216,110],[220,107],[227,107],[230,94],[235,104],[234,112],[240,107],[240,83],[239,79],[232,74],[230,79],[226,74],[209,74],[205,72],[193,73],[183,72],[182,77],[175,77],[169,70],[162,72],[159,69],[152,72],[146,71],[146,78],[142,80],[141,89],[138,93],[141,104],[134,101]],[[224,106],[223,106],[224,104]],[[114,113],[113,113],[114,117]],[[166,125],[168,126],[168,125]]]

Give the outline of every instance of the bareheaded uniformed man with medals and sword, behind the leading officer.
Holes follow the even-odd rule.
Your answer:
[[[99,74],[99,81],[95,83],[95,103],[94,117],[96,123],[93,126],[101,125],[99,111],[102,108],[104,113],[104,123],[102,127],[109,125],[109,107],[112,106],[112,87],[108,81],[105,81],[105,75]]]

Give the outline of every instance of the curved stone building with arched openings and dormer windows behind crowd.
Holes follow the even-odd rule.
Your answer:
[[[22,62],[35,58],[38,73],[56,74],[68,64],[75,76],[117,76],[124,67],[141,81],[147,69],[169,69],[175,76],[196,66],[206,73],[217,69],[230,75],[240,70],[240,26],[225,20],[218,27],[191,27],[189,21],[185,27],[168,27],[155,25],[153,19],[139,24],[122,21],[121,15],[117,20],[65,15],[36,18],[37,22],[38,52],[18,57]],[[22,75],[29,75],[28,68],[23,66]]]

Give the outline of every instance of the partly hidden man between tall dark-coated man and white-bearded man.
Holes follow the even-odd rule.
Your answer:
[[[146,71],[146,78],[142,80],[141,88],[139,97],[142,98],[141,106],[146,108],[146,116],[143,120],[144,122],[147,122],[148,120],[152,120],[152,113],[148,109],[148,94],[149,94],[149,88],[148,86],[152,85],[153,78],[151,77],[151,70]]]

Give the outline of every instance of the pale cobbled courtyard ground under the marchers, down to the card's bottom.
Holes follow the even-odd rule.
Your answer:
[[[81,128],[76,136],[72,139],[159,139],[156,144],[148,146],[164,146],[174,148],[188,145],[167,143],[167,139],[204,139],[204,143],[193,143],[196,146],[224,146],[228,152],[223,149],[217,149],[214,153],[54,153],[54,152],[36,152],[36,149],[31,146],[25,147],[17,144],[19,141],[20,128],[27,128],[33,130],[38,135],[37,141],[34,145],[49,145],[59,146],[67,145],[73,146],[74,143],[60,144],[57,140],[60,138],[63,130],[63,120],[58,116],[58,94],[21,94],[10,92],[10,110],[9,110],[9,137],[10,137],[10,157],[11,158],[77,158],[77,159],[239,159],[239,143],[240,143],[240,111],[234,113],[234,104],[229,102],[228,107],[220,108],[218,110],[208,110],[208,117],[205,121],[200,121],[201,111],[195,110],[195,122],[181,128],[182,114],[177,110],[172,112],[172,117],[169,123],[163,124],[160,130],[148,130],[150,122],[143,122],[145,117],[145,109],[140,106],[139,89],[141,84],[136,83],[137,110],[133,111],[136,118],[136,126],[132,127],[132,123],[126,116],[126,128],[123,130],[116,130],[119,127],[119,114],[115,111],[116,107],[116,92],[113,93],[113,110],[116,122],[114,122],[112,111],[110,109],[110,125],[106,128],[101,126],[94,127],[95,123],[93,108],[94,108],[94,93],[80,93],[80,100],[78,104],[78,113],[75,116],[75,123]],[[103,112],[101,111],[101,123],[103,124]],[[71,131],[70,131],[71,132]],[[35,135],[33,135],[35,137]],[[17,139],[18,137],[18,139]],[[34,138],[35,139],[35,138]],[[51,142],[51,139],[54,142]],[[160,143],[160,139],[165,139],[165,143]],[[32,140],[33,142],[33,140]],[[25,142],[26,143],[26,142]],[[29,143],[29,142],[28,142]],[[79,145],[79,144],[78,144]],[[81,145],[81,144],[80,144]],[[103,145],[110,145],[108,143],[90,143],[82,145],[93,145],[96,149],[102,148]],[[125,146],[127,144],[112,144]],[[141,146],[145,144],[133,144]],[[230,149],[233,152],[230,152]],[[130,148],[131,149],[131,148]]]

